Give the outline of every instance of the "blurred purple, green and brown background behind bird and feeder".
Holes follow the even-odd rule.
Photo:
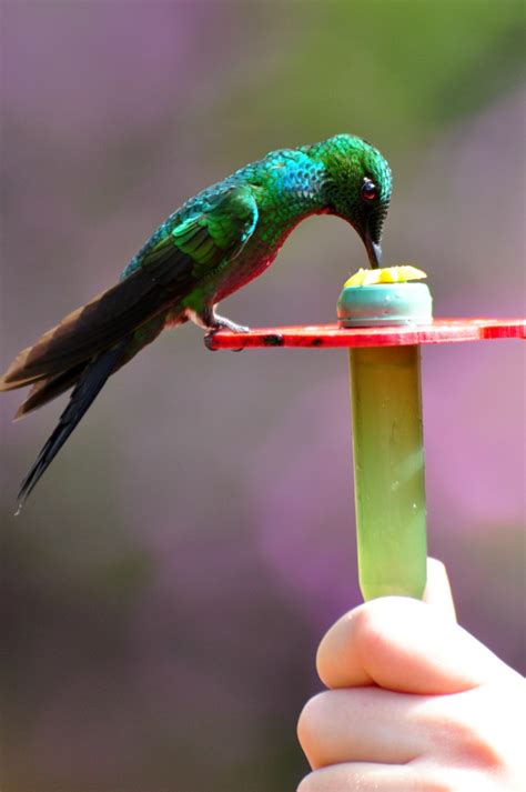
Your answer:
[[[111,285],[183,200],[336,132],[387,157],[386,262],[441,315],[524,315],[520,1],[2,3],[1,365]],[[225,304],[332,321],[365,265],[315,218]],[[526,671],[525,353],[427,348],[431,553],[459,620]],[[63,400],[2,394],[3,792],[269,792],[306,772],[317,643],[360,602],[346,355],[164,333],[114,377],[21,517]]]

